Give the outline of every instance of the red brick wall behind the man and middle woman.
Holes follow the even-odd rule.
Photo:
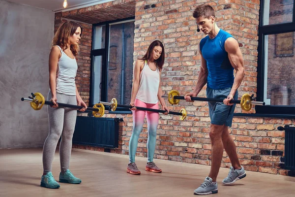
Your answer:
[[[197,3],[198,2],[198,3]],[[162,89],[167,94],[178,90],[181,95],[191,91],[198,79],[200,56],[197,45],[202,33],[192,17],[195,5],[208,2],[216,10],[217,25],[232,33],[244,57],[246,76],[239,88],[239,95],[257,92],[257,46],[259,0],[141,0],[135,5],[134,60],[145,54],[154,39],[164,43],[166,60],[162,72]],[[88,8],[86,8],[88,9]],[[85,19],[83,19],[85,22]],[[205,96],[205,88],[201,91]],[[170,110],[185,107],[196,118],[180,121],[177,116],[160,114],[155,158],[194,164],[211,164],[208,108],[206,102],[180,101]],[[241,108],[236,107],[236,112]],[[248,113],[255,113],[254,108]],[[85,115],[85,114],[84,114]],[[113,153],[128,155],[132,133],[132,115],[107,114],[106,117],[123,118],[119,128],[119,147]],[[238,157],[246,170],[287,175],[282,169],[284,157],[284,131],[278,126],[292,125],[295,120],[274,118],[235,117],[229,132],[237,146]],[[137,156],[147,157],[147,124],[140,135]],[[73,147],[105,151],[89,146]],[[230,166],[224,152],[221,166]],[[128,161],[126,161],[127,163]]]

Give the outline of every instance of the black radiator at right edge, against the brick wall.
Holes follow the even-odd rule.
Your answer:
[[[285,169],[295,170],[295,127],[286,125],[278,130],[285,130]]]

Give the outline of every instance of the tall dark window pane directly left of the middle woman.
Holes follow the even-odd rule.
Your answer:
[[[132,89],[134,21],[110,24],[108,97],[129,104]]]

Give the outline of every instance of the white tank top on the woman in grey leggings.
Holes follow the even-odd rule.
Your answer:
[[[57,45],[58,46],[58,45]],[[77,61],[67,56],[63,50],[59,47],[61,56],[58,62],[57,70],[57,93],[64,95],[76,95],[75,77],[77,74]]]

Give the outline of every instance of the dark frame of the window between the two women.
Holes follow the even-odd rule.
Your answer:
[[[100,101],[110,102],[107,100],[108,97],[108,68],[109,68],[109,44],[110,44],[110,27],[114,23],[119,23],[123,21],[135,20],[135,17],[129,17],[124,19],[118,19],[114,21],[106,21],[101,23],[96,23],[92,25],[92,38],[91,38],[91,52],[90,52],[90,84],[89,84],[89,105],[94,105],[93,96],[94,96],[94,77],[93,77],[93,68],[94,68],[94,57],[102,56],[102,70],[101,70],[101,89],[100,89]],[[94,49],[95,41],[95,28],[97,26],[105,25],[105,47],[102,49]],[[106,107],[106,110],[109,110]],[[117,107],[115,112],[111,110],[109,113],[131,113],[129,109]]]

